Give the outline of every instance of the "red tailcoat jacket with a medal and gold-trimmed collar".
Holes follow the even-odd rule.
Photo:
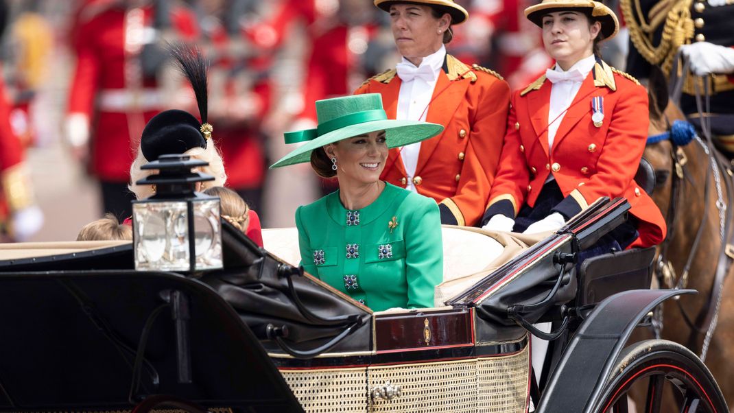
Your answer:
[[[600,127],[592,122],[592,98],[603,98]],[[647,139],[647,91],[631,76],[597,61],[563,117],[548,153],[551,82],[542,76],[512,96],[500,167],[486,219],[515,216],[535,205],[553,172],[565,199],[556,206],[573,215],[599,197],[625,197],[639,219],[632,246],[653,246],[666,227],[653,200],[633,180]],[[511,206],[510,206],[511,205]]]

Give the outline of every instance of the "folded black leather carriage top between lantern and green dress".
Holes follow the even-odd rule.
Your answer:
[[[306,358],[374,349],[371,310],[223,224],[225,270],[201,280],[240,314],[271,353]]]

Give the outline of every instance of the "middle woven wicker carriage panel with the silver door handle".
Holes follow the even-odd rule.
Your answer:
[[[400,386],[402,395],[377,400],[371,412],[476,412],[476,359],[393,365],[368,369],[368,387],[387,381]]]

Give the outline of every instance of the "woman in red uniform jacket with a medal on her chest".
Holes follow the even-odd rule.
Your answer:
[[[512,97],[485,228],[556,230],[599,197],[625,197],[631,219],[606,248],[663,241],[664,219],[633,177],[647,137],[647,92],[595,53],[617,33],[591,0],[544,0],[525,14],[542,28],[556,66]]]

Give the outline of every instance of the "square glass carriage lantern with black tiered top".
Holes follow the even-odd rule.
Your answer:
[[[133,246],[138,271],[203,271],[222,268],[219,198],[195,191],[197,182],[214,180],[193,172],[206,161],[163,155],[142,169],[159,173],[137,181],[155,194],[133,202]]]

